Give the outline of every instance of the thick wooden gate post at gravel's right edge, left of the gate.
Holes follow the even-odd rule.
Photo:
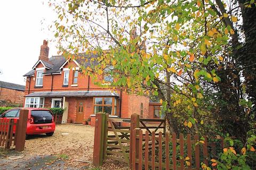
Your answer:
[[[105,139],[106,114],[97,113],[95,117],[94,145],[93,145],[93,165],[101,166],[103,160],[103,150]]]

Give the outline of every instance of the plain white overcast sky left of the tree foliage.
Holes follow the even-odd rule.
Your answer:
[[[53,39],[47,27],[54,13],[41,0],[0,2],[0,81],[25,85],[22,76],[38,60],[43,40]],[[41,24],[43,21],[43,24]],[[57,55],[55,44],[49,41],[50,54]]]

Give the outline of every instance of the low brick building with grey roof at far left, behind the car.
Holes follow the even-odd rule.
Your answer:
[[[25,86],[0,81],[0,106],[23,105]]]

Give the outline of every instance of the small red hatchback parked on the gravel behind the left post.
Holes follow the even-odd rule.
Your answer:
[[[2,115],[0,118],[8,119],[14,118],[14,123],[19,119],[20,109],[12,108]],[[44,108],[26,108],[28,109],[28,121],[26,137],[31,134],[45,133],[47,136],[52,136],[55,131],[55,123],[53,120],[52,111]],[[13,127],[13,133],[15,133],[16,127]]]

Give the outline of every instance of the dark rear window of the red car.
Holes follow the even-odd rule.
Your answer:
[[[44,110],[31,111],[31,116],[33,116],[35,124],[52,122],[52,114],[50,111],[44,111]]]

